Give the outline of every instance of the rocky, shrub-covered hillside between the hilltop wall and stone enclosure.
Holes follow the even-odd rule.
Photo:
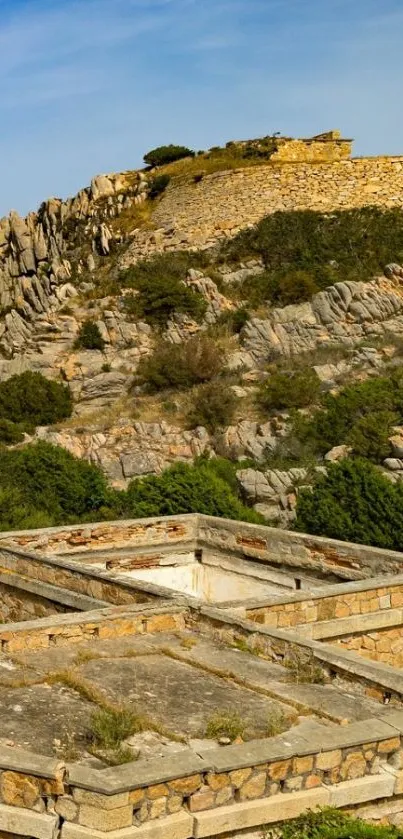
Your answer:
[[[153,229],[184,175],[277,146],[161,146],[63,210],[49,312],[3,312],[2,530],[201,512],[403,549],[403,211],[275,212],[199,249]]]

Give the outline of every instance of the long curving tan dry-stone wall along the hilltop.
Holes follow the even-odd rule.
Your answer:
[[[201,164],[202,169],[202,164]],[[403,157],[333,163],[269,163],[172,180],[153,215],[194,244],[233,236],[276,210],[329,211],[364,205],[403,205]]]

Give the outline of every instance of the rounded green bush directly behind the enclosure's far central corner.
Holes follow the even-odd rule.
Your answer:
[[[162,475],[132,481],[121,494],[120,512],[128,518],[203,513],[257,524],[264,520],[245,507],[218,475],[205,464],[176,463]]]

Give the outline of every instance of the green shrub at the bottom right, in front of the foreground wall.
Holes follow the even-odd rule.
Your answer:
[[[331,807],[319,812],[308,810],[263,834],[264,839],[399,839],[400,836],[401,831],[395,827],[367,824]]]

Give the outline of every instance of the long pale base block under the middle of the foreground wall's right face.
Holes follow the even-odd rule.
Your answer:
[[[307,810],[326,807],[329,800],[328,787],[320,787],[300,793],[280,793],[257,801],[228,804],[206,813],[195,814],[193,835],[195,839],[202,839],[204,836],[217,836],[220,833],[233,833],[258,825],[287,821]]]

